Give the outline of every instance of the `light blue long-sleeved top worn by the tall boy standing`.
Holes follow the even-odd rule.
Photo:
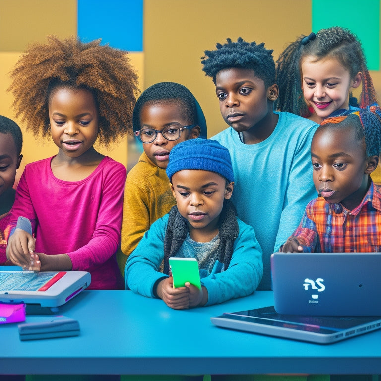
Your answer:
[[[212,139],[227,147],[235,186],[232,200],[238,217],[254,228],[263,251],[258,290],[271,289],[270,255],[298,226],[317,192],[312,180],[311,140],[318,124],[287,112],[279,114],[272,134],[244,144],[229,127]]]

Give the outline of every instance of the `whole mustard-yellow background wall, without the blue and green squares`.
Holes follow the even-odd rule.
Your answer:
[[[112,4],[115,0],[109,0]],[[364,0],[366,1],[366,0]],[[96,7],[94,2],[94,7]],[[204,110],[208,136],[226,128],[214,85],[204,76],[200,57],[227,37],[265,42],[274,59],[300,34],[311,31],[311,0],[144,0],[143,52],[130,52],[138,70],[140,87],[160,81],[187,86]],[[333,16],[332,16],[333,17]],[[91,18],[88,20],[92,22]],[[361,22],[358,18],[354,22]],[[110,25],[113,28],[113,25]],[[77,31],[77,0],[0,0],[0,114],[14,119],[12,96],[6,92],[9,71],[29,42],[45,41],[47,34],[67,37]],[[99,36],[102,37],[102,36]],[[107,41],[104,41],[107,42]],[[381,73],[372,71],[381,97]],[[57,152],[50,140],[36,141],[26,126],[23,165]],[[127,138],[102,153],[127,166],[136,160],[128,153]],[[130,150],[131,151],[131,150]],[[129,167],[130,165],[128,165]]]

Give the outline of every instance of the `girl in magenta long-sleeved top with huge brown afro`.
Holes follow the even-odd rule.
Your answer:
[[[41,271],[89,271],[90,289],[123,289],[115,253],[126,169],[94,143],[132,132],[137,75],[126,51],[100,42],[48,36],[29,45],[11,74],[16,115],[50,135],[58,152],[21,175],[10,226],[28,218],[36,240],[14,229],[7,256],[26,268],[32,258]]]

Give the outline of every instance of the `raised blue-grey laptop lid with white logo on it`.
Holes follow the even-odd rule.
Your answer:
[[[274,253],[279,314],[381,316],[381,253]]]

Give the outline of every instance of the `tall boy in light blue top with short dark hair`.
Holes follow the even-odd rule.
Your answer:
[[[213,139],[230,151],[237,184],[232,200],[263,251],[258,290],[269,290],[270,255],[292,234],[316,196],[310,145],[318,125],[273,111],[278,97],[275,63],[264,43],[227,39],[216,47],[205,51],[203,70],[216,85],[222,117],[231,127]]]

